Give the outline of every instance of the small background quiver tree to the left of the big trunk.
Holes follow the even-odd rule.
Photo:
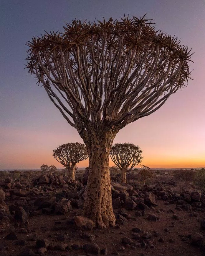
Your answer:
[[[68,177],[75,180],[75,165],[88,158],[87,148],[83,143],[67,143],[53,150],[54,158],[68,170]]]

